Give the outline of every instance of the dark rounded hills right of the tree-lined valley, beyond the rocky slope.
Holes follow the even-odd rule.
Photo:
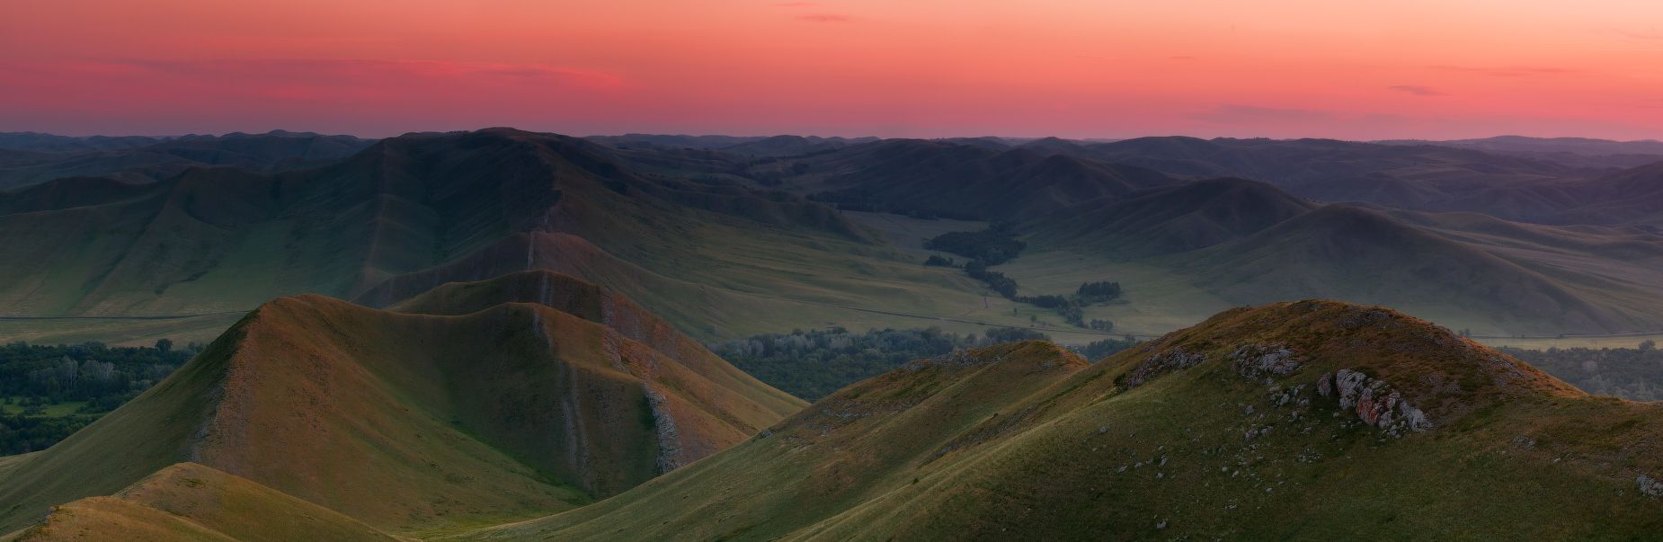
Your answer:
[[[1033,258],[1089,254],[1164,269],[1224,306],[1332,298],[1490,336],[1663,329],[1653,309],[1663,301],[1663,236],[1638,226],[1319,204],[1246,180],[1083,203],[1026,226]],[[1043,268],[1019,269],[1019,283],[1044,279]],[[1128,291],[1137,303],[1166,303],[1161,291]]]

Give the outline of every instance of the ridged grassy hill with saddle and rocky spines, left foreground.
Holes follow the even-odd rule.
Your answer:
[[[574,308],[607,304],[574,288],[562,298]],[[620,328],[652,323],[612,303]],[[732,366],[640,329],[688,362],[542,304],[439,316],[278,299],[18,462],[0,482],[0,530],[181,461],[387,530],[524,517],[690,464],[802,404],[753,381],[728,387],[742,376]]]

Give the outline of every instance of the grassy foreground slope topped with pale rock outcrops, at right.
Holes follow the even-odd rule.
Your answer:
[[[920,361],[464,539],[1631,539],[1663,527],[1660,434],[1655,404],[1425,321],[1282,303],[1094,366],[1038,342]]]

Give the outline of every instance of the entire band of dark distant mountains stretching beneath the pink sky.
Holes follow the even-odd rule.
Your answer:
[[[166,143],[264,148],[291,163],[276,150],[319,141],[336,140]],[[303,293],[389,306],[537,268],[639,298],[703,339],[788,331],[780,314],[805,326],[983,304],[975,281],[911,268],[841,208],[1006,221],[1039,251],[1166,268],[1222,303],[1340,298],[1487,333],[1663,329],[1651,309],[1663,301],[1658,166],[1595,175],[1322,140],[605,141],[417,133],[306,168],[198,163],[148,183],[115,173],[32,185],[0,195],[0,244],[13,256],[0,264],[0,306],[5,316],[200,314]],[[827,148],[710,150],[790,141]],[[1462,208],[1527,219],[1447,213]]]

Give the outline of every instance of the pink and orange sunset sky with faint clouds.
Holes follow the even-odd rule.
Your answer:
[[[1663,138],[1655,0],[0,0],[0,131]]]

